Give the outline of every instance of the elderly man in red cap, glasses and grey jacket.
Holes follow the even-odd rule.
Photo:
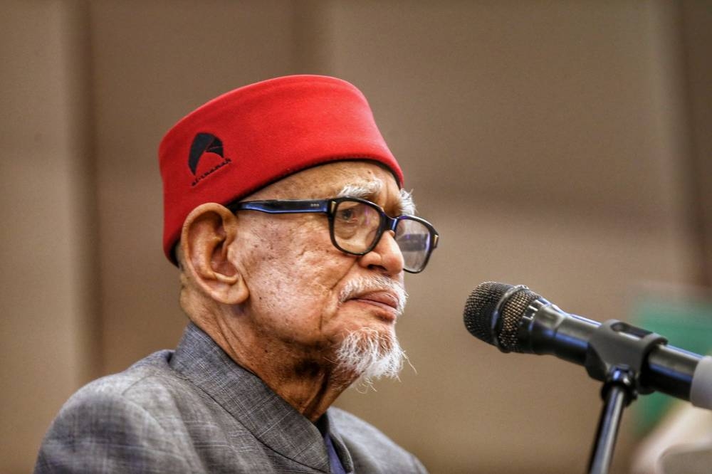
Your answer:
[[[398,373],[403,274],[438,241],[360,91],[312,75],[239,88],[175,125],[159,162],[189,325],[175,351],[72,396],[36,472],[424,472],[330,408]]]

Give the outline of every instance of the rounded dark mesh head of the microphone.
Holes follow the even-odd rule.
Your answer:
[[[513,285],[487,281],[480,283],[467,298],[464,310],[465,327],[474,337],[499,347],[503,352],[524,352],[517,332],[527,307],[540,299],[528,288],[513,293]],[[506,300],[501,302],[506,295]],[[499,314],[496,315],[496,310]],[[497,317],[497,320],[493,318]]]

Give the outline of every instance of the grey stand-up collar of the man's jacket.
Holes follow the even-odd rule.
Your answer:
[[[315,470],[329,472],[324,438],[315,424],[256,375],[230,359],[199,327],[188,325],[170,366],[273,451]],[[352,458],[328,412],[325,417],[341,463],[347,472],[352,472]]]

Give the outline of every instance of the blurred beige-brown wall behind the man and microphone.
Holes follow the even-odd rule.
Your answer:
[[[483,280],[597,320],[650,282],[710,288],[711,3],[3,1],[0,472],[31,470],[75,389],[182,333],[164,132],[292,73],[363,90],[442,237],[399,322],[417,373],[340,406],[433,473],[583,472],[599,384],[473,339],[462,307]]]

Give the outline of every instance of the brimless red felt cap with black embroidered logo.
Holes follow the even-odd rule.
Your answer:
[[[200,204],[229,204],[308,167],[367,159],[403,173],[360,90],[345,80],[291,75],[232,90],[168,131],[159,146],[163,250]]]

